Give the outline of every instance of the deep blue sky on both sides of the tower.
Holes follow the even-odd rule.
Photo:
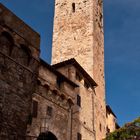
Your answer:
[[[41,35],[50,63],[54,0],[0,0]],[[104,0],[106,99],[120,125],[140,116],[140,0]]]

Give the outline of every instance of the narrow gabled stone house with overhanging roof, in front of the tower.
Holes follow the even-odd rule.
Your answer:
[[[79,85],[75,91],[75,102],[72,107],[72,140],[77,139],[77,133],[81,134],[83,140],[94,140],[96,135],[94,100],[97,84],[75,59],[60,62],[53,67]],[[79,106],[77,96],[80,97]]]

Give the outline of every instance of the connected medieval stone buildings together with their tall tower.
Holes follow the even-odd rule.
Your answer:
[[[56,0],[55,5],[49,65],[39,57],[39,34],[0,4],[2,140],[101,140],[106,135],[102,3]]]

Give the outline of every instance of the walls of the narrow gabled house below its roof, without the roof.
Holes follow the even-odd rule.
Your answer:
[[[85,87],[87,77],[84,77],[72,64],[64,65],[58,68],[58,71],[79,85],[79,88],[75,90],[74,106],[72,107],[72,140],[77,139],[78,133],[81,134],[82,139],[95,139],[94,88]],[[81,76],[80,80],[76,79],[76,74]],[[80,106],[77,105],[77,95],[81,98]]]

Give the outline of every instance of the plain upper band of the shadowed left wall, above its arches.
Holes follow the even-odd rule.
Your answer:
[[[2,4],[0,4],[0,23],[10,27],[33,47],[40,48],[40,35]]]

